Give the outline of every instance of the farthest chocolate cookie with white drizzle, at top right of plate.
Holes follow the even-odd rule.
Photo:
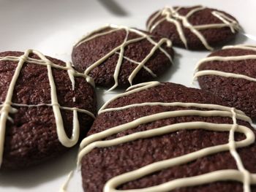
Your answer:
[[[234,39],[240,28],[226,12],[203,6],[165,7],[151,15],[146,25],[152,34],[190,50],[213,50]]]

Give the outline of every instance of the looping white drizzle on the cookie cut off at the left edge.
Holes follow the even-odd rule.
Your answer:
[[[31,53],[33,53],[34,55],[37,55],[39,59],[30,58],[29,55]],[[91,112],[87,110],[81,110],[81,109],[78,109],[77,107],[61,107],[59,105],[52,68],[67,71],[69,75],[69,79],[72,83],[72,90],[75,90],[75,77],[84,77],[87,82],[89,82],[91,85],[94,86],[94,81],[91,79],[91,77],[88,77],[86,74],[80,74],[78,72],[75,72],[75,69],[72,68],[70,63],[67,63],[67,66],[59,66],[57,64],[54,64],[52,61],[46,58],[45,55],[42,55],[42,53],[39,53],[39,51],[37,50],[26,50],[25,53],[23,55],[20,55],[19,57],[15,57],[15,56],[0,57],[0,61],[17,61],[18,62],[18,66],[15,69],[15,73],[13,74],[12,80],[10,82],[10,85],[7,91],[6,99],[4,103],[0,105],[0,108],[1,108],[0,110],[0,166],[3,160],[4,137],[5,137],[7,120],[10,120],[13,123],[13,120],[9,116],[9,113],[18,112],[18,110],[15,109],[14,106],[15,107],[42,107],[42,106],[53,107],[53,114],[56,120],[56,130],[57,130],[59,141],[65,147],[72,147],[73,145],[75,145],[78,142],[79,131],[80,131],[79,121],[78,121],[78,112],[83,112],[86,115],[91,116],[92,118],[95,118],[95,117]],[[18,80],[23,64],[37,64],[37,65],[47,67],[48,79],[50,82],[50,98],[51,98],[50,104],[12,103],[12,94],[15,89],[15,84]],[[70,110],[73,112],[73,128],[72,128],[71,139],[67,137],[67,134],[64,130],[64,123],[61,117],[61,110]]]

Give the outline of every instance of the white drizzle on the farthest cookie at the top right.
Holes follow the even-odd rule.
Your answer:
[[[154,28],[159,26],[160,23],[167,21],[167,22],[173,23],[176,26],[178,36],[180,37],[181,41],[184,43],[184,46],[186,48],[188,48],[188,45],[187,45],[187,38],[185,37],[183,27],[188,28],[189,31],[195,34],[195,36],[198,39],[200,39],[200,41],[206,47],[206,49],[213,50],[214,48],[208,45],[206,38],[203,37],[203,34],[200,33],[200,30],[205,30],[209,28],[230,27],[230,30],[233,33],[236,33],[236,31],[240,29],[240,26],[236,20],[233,20],[232,18],[229,18],[227,17],[227,15],[218,11],[212,11],[211,14],[214,15],[214,17],[218,18],[222,23],[212,23],[212,24],[206,24],[206,25],[193,26],[192,23],[189,22],[189,17],[195,14],[195,12],[206,9],[207,7],[197,6],[194,9],[190,10],[187,13],[187,15],[181,15],[178,13],[178,11],[181,8],[183,7],[177,7],[176,9],[174,9],[173,7],[165,7],[164,9],[159,10],[159,12],[157,12],[150,20],[148,20],[148,25],[147,25],[148,31],[150,32],[154,31]],[[161,18],[160,20],[157,20],[157,18],[159,17],[163,17],[163,18]],[[157,22],[155,22],[156,20]]]

